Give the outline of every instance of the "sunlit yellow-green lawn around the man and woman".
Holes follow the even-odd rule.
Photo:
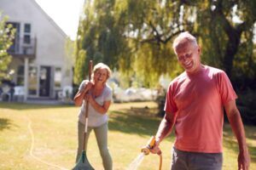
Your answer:
[[[156,133],[160,117],[153,102],[113,104],[109,113],[108,145],[113,169],[128,167],[141,147]],[[67,105],[24,105],[0,103],[0,169],[71,169],[77,147],[78,107]],[[247,144],[256,169],[256,127],[246,127]],[[163,167],[169,169],[174,138],[160,145]],[[230,125],[224,124],[224,170],[237,169],[237,144]],[[102,160],[94,133],[90,134],[87,156],[96,170]],[[140,170],[157,169],[159,158],[145,156]]]

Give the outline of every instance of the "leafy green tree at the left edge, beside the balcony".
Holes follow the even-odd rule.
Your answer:
[[[6,21],[7,17],[3,17],[0,12],[0,80],[8,77],[7,71],[11,56],[7,53],[7,50],[15,36],[15,29],[12,29],[11,25],[6,25]]]

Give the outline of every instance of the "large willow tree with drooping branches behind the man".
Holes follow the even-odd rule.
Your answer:
[[[181,71],[172,41],[178,33],[190,31],[198,37],[207,64],[224,69],[230,77],[247,71],[250,77],[255,76],[255,1],[85,2],[77,56],[84,50],[87,60],[102,60],[153,86],[160,75],[174,77]]]

